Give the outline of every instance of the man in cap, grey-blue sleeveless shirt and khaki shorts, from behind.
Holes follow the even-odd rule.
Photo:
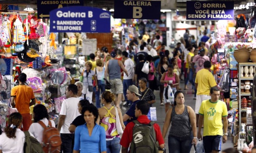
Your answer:
[[[115,59],[116,53],[113,51],[110,54],[111,59],[106,63],[106,70],[105,70],[105,78],[109,79],[111,83],[111,92],[115,95],[117,94],[117,98],[115,101],[116,107],[120,108],[120,102],[122,100],[123,94],[123,82],[121,80],[121,69],[125,72],[126,76],[128,75],[127,70],[123,66],[122,61]]]

